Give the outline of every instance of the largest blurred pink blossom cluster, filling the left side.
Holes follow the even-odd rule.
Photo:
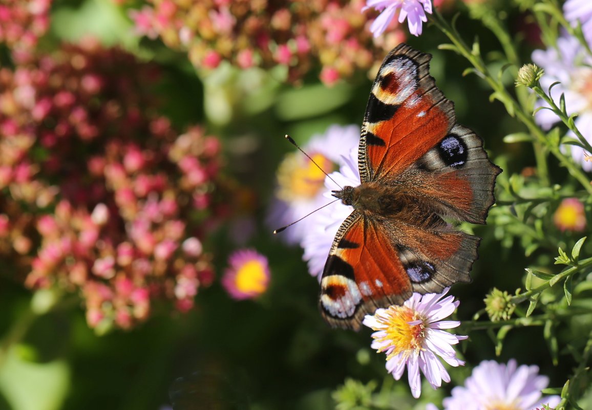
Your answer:
[[[220,141],[153,114],[156,80],[94,41],[0,70],[0,257],[78,292],[91,327],[130,328],[156,299],[186,311],[213,280]]]

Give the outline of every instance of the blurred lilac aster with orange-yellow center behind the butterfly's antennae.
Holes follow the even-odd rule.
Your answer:
[[[313,135],[303,147],[325,172],[330,173],[342,164],[342,158],[353,146],[358,146],[360,127],[331,125],[323,135]],[[297,221],[327,204],[323,196],[324,173],[304,154],[288,154],[278,167],[278,186],[267,223],[272,229]],[[335,189],[335,188],[333,188]],[[282,240],[297,244],[303,240],[313,221],[305,218],[280,234]]]

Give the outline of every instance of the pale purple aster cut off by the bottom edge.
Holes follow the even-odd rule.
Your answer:
[[[549,378],[539,375],[538,366],[516,366],[494,360],[482,361],[465,380],[465,386],[452,389],[452,396],[444,399],[445,410],[542,409],[543,404],[554,408],[559,396],[542,397],[540,390],[549,384]]]

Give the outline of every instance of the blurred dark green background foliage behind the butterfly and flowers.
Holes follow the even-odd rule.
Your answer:
[[[529,62],[532,50],[541,47],[530,35],[529,14],[511,1],[489,3],[520,44],[520,57]],[[368,329],[355,333],[327,327],[317,311],[318,283],[308,275],[301,250],[282,244],[264,222],[276,167],[293,149],[284,134],[304,144],[331,124],[361,124],[375,70],[356,70],[327,86],[318,79],[319,66],[295,83],[287,82],[287,70],[281,66],[240,70],[222,62],[215,69],[196,69],[186,53],[134,32],[129,12],[143,6],[141,1],[55,0],[49,31],[38,49],[50,53],[64,41],[93,36],[104,46],[122,47],[159,67],[160,80],[149,84],[159,114],[176,129],[199,123],[219,137],[221,174],[256,198],[248,214],[256,226],[253,235],[237,236],[223,223],[203,238],[216,277],[229,253],[246,245],[269,258],[269,289],[256,301],[233,301],[215,279],[209,288],[200,289],[189,312],[157,304],[150,318],[136,327],[98,334],[87,324],[79,295],[25,289],[22,277],[9,269],[11,264],[0,262],[0,409],[159,409],[172,401],[175,409],[314,410],[334,408],[336,402],[341,409],[355,409],[372,408],[363,403],[371,392],[375,396],[368,400],[376,408],[423,409],[462,384],[469,368],[452,369],[450,385],[437,392],[426,385],[420,401],[411,399],[405,383],[385,374],[384,357],[369,347]],[[491,31],[471,18],[462,2],[447,2],[442,11],[448,19],[458,13],[459,32],[467,41],[478,37],[496,73],[503,62]],[[525,131],[523,125],[503,104],[490,102],[491,90],[484,80],[462,75],[468,67],[464,59],[438,49],[446,38],[433,25],[427,24],[421,37],[407,42],[433,55],[430,72],[455,102],[458,122],[483,138],[490,157],[503,168],[498,199],[512,201],[504,189],[509,184],[518,192],[530,189],[539,195],[540,185],[530,172],[535,165],[532,144],[504,142],[506,135]],[[7,46],[0,61],[5,67],[14,63]],[[513,81],[509,72],[503,76],[510,88]],[[567,172],[554,161],[549,162],[549,177],[551,186],[561,184],[566,192],[574,191],[575,186],[565,183]],[[227,201],[233,201],[232,192]],[[510,293],[524,289],[526,267],[558,272],[553,266],[557,248],[571,250],[583,236],[554,230],[550,219],[558,202],[531,210],[536,218],[549,219],[539,233],[517,224],[512,216],[523,212],[524,205],[498,206],[491,211],[489,225],[466,227],[483,240],[473,282],[452,289],[461,301],[458,319],[470,320],[494,287]],[[590,221],[589,203],[586,215]],[[533,243],[536,246],[529,248]],[[588,243],[581,253],[590,250]],[[572,320],[554,331],[561,346],[582,346],[588,340],[592,315]],[[469,333],[469,340],[459,345],[468,363],[517,357],[520,363],[538,364],[554,387],[561,387],[578,364],[565,350],[558,352],[561,360],[553,362],[541,326],[510,331],[499,357],[492,338],[496,335],[486,330]]]

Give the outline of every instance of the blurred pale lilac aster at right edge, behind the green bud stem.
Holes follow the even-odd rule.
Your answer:
[[[586,140],[592,142],[592,57],[585,53],[576,38],[561,37],[557,40],[556,49],[535,50],[532,60],[545,69],[545,75],[540,79],[543,91],[548,91],[552,83],[559,82],[551,89],[551,97],[559,104],[559,98],[564,93],[567,114],[578,112],[575,126]],[[537,105],[547,106],[542,100]],[[536,113],[535,120],[548,130],[559,121],[559,117],[550,109],[541,109]],[[568,135],[576,138],[571,131]],[[574,160],[584,170],[592,170],[592,162],[585,160],[587,153],[583,148],[570,146],[570,150]]]

